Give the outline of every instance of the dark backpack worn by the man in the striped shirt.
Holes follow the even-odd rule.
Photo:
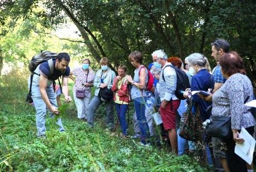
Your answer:
[[[174,92],[175,96],[178,99],[185,100],[186,98],[184,98],[183,93],[181,93],[181,91],[185,91],[186,88],[190,88],[188,75],[186,75],[186,73],[183,70],[175,67],[174,65],[166,65],[165,68],[166,67],[174,68],[176,75],[177,75],[177,85],[176,85],[176,90]],[[165,82],[164,72],[163,72],[162,77]]]

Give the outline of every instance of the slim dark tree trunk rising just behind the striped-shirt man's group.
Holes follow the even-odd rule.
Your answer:
[[[179,27],[178,27],[178,24],[176,23],[176,19],[173,15],[173,12],[170,9],[170,3],[169,3],[168,0],[165,0],[165,6],[166,6],[166,9],[167,9],[170,21],[171,21],[171,23],[173,24],[173,27],[174,27],[174,32],[175,32],[175,35],[176,35],[176,38],[177,38],[177,41],[178,41],[178,48],[179,48],[180,58],[184,60],[183,45],[182,45],[182,42],[181,42]]]

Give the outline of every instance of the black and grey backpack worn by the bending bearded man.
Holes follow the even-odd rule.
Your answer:
[[[36,68],[38,67],[39,64],[43,63],[43,62],[48,62],[49,67],[50,67],[50,74],[53,74],[54,71],[54,66],[53,66],[53,59],[56,59],[57,54],[56,53],[52,53],[49,51],[43,51],[41,50],[41,53],[36,54],[33,56],[33,58],[31,59],[31,61],[28,64],[28,69],[31,72],[30,75],[30,86],[29,86],[29,92],[27,95],[27,99],[26,102],[27,103],[33,103],[33,99],[31,97],[31,88],[32,88],[32,82],[33,82],[33,75],[39,75],[38,73],[35,73]],[[60,83],[60,79],[58,78],[58,83],[60,84],[60,88],[61,88],[61,83]],[[53,80],[53,90],[55,91],[55,81]],[[61,93],[62,93],[62,88],[61,88]]]

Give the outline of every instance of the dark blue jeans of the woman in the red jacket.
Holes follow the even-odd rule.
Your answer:
[[[116,113],[119,117],[122,134],[125,134],[125,135],[127,135],[127,123],[126,123],[126,119],[125,119],[125,114],[126,114],[126,111],[128,108],[129,107],[127,104],[116,103]],[[121,112],[120,112],[120,109],[121,109]]]

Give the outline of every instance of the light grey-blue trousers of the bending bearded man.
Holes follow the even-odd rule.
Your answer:
[[[46,127],[45,127],[45,116],[46,116],[46,104],[42,99],[39,85],[32,84],[31,88],[32,99],[36,108],[36,127],[37,127],[37,136],[45,135]],[[53,92],[53,88],[46,88],[46,93],[50,103],[54,107],[58,107],[56,100],[56,93]],[[50,118],[53,118],[54,114],[50,112]],[[60,126],[59,130],[64,131],[64,127],[61,122],[61,118],[58,118],[57,125]]]

